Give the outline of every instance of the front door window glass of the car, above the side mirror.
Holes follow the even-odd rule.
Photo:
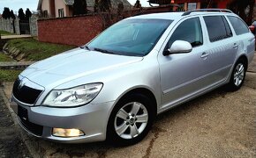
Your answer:
[[[169,47],[176,40],[185,40],[192,44],[192,47],[203,44],[202,29],[199,18],[190,18],[177,26],[177,29],[169,39]]]

